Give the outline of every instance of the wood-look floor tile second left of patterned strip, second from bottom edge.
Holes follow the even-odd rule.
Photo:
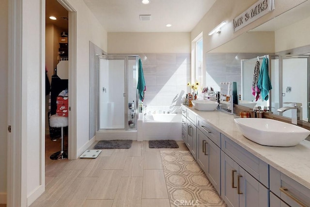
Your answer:
[[[122,177],[142,177],[143,157],[127,157]]]

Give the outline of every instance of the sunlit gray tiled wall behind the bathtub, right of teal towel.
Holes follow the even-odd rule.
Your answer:
[[[190,54],[139,54],[146,93],[143,105],[180,106],[181,99],[190,92]]]

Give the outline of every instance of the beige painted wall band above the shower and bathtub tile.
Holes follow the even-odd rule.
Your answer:
[[[190,32],[109,32],[108,53],[190,53]]]

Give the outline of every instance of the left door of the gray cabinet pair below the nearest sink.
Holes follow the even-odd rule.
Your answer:
[[[237,175],[239,165],[221,151],[221,197],[228,207],[239,207]]]

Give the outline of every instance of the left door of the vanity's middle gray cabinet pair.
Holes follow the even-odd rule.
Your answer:
[[[197,162],[204,172],[206,172],[207,156],[205,155],[205,142],[207,141],[207,136],[205,136],[201,130],[197,130]]]

